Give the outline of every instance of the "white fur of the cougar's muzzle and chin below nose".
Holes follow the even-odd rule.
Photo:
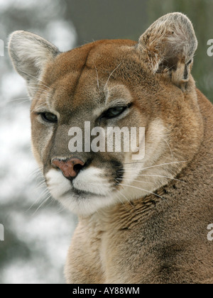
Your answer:
[[[115,203],[110,195],[110,184],[101,175],[102,170],[95,167],[80,172],[73,186],[82,194],[76,194],[71,182],[58,170],[50,170],[45,177],[55,199],[77,215],[89,215]]]

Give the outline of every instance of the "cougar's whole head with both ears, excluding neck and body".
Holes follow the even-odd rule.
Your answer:
[[[181,13],[160,18],[138,43],[100,40],[67,53],[33,33],[11,35],[32,99],[33,153],[55,199],[87,215],[175,179],[201,141],[196,48]]]

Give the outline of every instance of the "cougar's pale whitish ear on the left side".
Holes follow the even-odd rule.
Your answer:
[[[31,97],[36,92],[40,76],[48,62],[60,54],[55,45],[26,31],[15,31],[9,36],[9,55],[13,67],[26,79]]]

